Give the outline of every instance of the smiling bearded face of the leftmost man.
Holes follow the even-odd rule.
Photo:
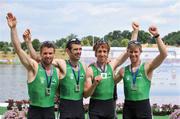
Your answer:
[[[54,48],[43,47],[40,54],[43,64],[46,66],[51,65],[54,59],[54,54]]]

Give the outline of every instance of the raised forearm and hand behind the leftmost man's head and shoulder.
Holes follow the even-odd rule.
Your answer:
[[[40,62],[41,57],[36,53],[36,51],[33,48],[31,42],[31,31],[29,29],[26,29],[26,31],[23,33],[23,39],[26,42],[31,58],[33,58],[37,62]]]

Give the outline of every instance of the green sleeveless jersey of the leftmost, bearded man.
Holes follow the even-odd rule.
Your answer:
[[[50,76],[48,76],[50,80]],[[49,81],[48,81],[49,82]],[[59,85],[59,79],[56,68],[53,66],[53,75],[50,85],[50,95],[46,95],[47,88],[46,72],[43,67],[38,65],[37,75],[31,83],[28,83],[28,94],[30,97],[30,105],[39,107],[54,106],[54,98]]]

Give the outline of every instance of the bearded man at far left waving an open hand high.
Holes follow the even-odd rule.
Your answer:
[[[17,21],[12,13],[7,14],[7,23],[11,31],[11,40],[21,63],[27,69],[27,85],[30,97],[28,119],[55,119],[54,97],[59,85],[59,70],[52,65],[55,47],[44,42],[40,47],[40,63],[30,58],[22,50],[18,38]]]

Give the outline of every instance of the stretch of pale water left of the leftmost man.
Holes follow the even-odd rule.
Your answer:
[[[26,74],[22,65],[0,65],[0,102],[28,99]]]

